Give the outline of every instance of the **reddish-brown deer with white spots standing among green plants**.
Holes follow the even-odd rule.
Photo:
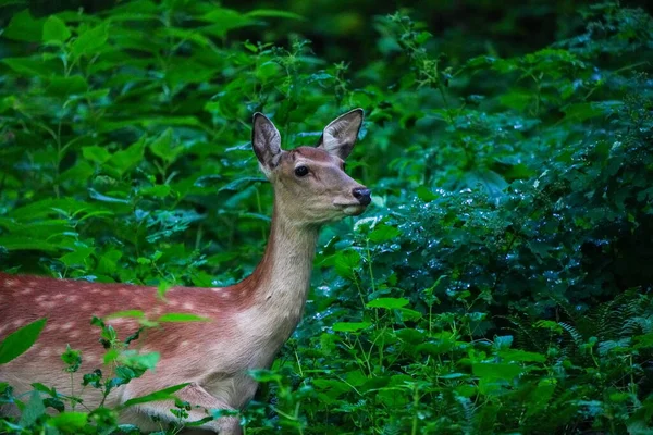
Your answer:
[[[156,373],[147,372],[115,389],[104,405],[114,407],[189,382],[176,393],[180,399],[197,406],[189,421],[206,418],[207,409],[242,409],[257,389],[247,371],[269,368],[301,318],[320,226],[358,215],[370,203],[370,190],[343,171],[361,123],[362,110],[353,110],[324,128],[316,148],[283,151],[272,122],[260,113],[254,115],[251,141],[260,169],[274,188],[274,212],[263,259],[238,284],[223,288],[174,287],[162,301],[155,287],[0,274],[0,336],[48,318],[37,343],[0,365],[0,381],[9,382],[17,394],[29,390],[35,382],[71,394],[70,374],[62,371],[59,358],[66,343],[83,351],[81,373],[101,366],[98,330],[89,325],[93,315],[126,309],[141,310],[153,318],[188,312],[209,322],[167,323],[148,330],[138,341],[144,341],[141,351],[160,352]],[[107,324],[122,338],[138,327],[127,318],[108,320]],[[81,394],[87,407],[100,401],[91,388],[82,390],[77,385],[73,394]],[[149,417],[172,420],[173,407],[171,401],[134,406],[123,411],[121,421],[156,428]],[[235,417],[223,417],[201,427],[220,434],[241,433]]]

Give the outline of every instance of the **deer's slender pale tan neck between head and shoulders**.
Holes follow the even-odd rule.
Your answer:
[[[257,311],[280,326],[283,324],[283,330],[289,327],[292,332],[301,318],[318,233],[319,226],[292,224],[274,201],[266,253],[250,279]]]

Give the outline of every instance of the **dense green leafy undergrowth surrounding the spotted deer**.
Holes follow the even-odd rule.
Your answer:
[[[0,42],[2,270],[148,284],[162,298],[233,284],[260,259],[272,201],[247,141],[251,113],[273,115],[293,148],[366,110],[347,171],[373,204],[323,231],[304,322],[271,370],[251,373],[263,388],[242,413],[246,433],[650,433],[644,11],[560,10],[557,38],[528,46],[503,5],[507,27],[491,32],[519,39],[514,50],[484,40],[490,30],[460,44],[398,12],[369,24],[372,51],[348,47],[332,63],[298,37],[268,41],[306,25],[294,12],[4,8],[15,10]],[[204,320],[131,309],[116,315],[144,328]],[[128,348],[138,334],[94,324],[115,370],[77,373],[84,355],[69,348],[75,388],[107,397],[156,366],[157,353]],[[0,362],[38,325],[4,338]],[[2,432],[138,433],[118,410],[82,409],[74,389],[14,397],[5,381],[0,406],[21,415]],[[183,420],[188,406],[171,412]]]

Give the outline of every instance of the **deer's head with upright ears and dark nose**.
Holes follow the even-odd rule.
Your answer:
[[[331,122],[317,147],[284,151],[274,124],[261,113],[254,115],[251,144],[261,171],[274,185],[281,219],[315,226],[365,211],[370,190],[345,173],[345,159],[361,124],[362,110],[355,109]]]

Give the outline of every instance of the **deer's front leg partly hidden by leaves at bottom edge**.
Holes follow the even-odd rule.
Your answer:
[[[208,417],[205,409],[234,410],[233,407],[213,397],[197,383],[192,383],[183,389],[180,389],[175,393],[175,396],[180,400],[187,401],[193,407],[193,409],[187,411],[189,422],[195,422]],[[200,407],[200,409],[196,407]],[[137,405],[135,408],[137,409],[137,412],[141,414],[157,415],[167,421],[174,420],[173,414],[170,412],[170,410],[174,408],[174,403],[170,400]],[[217,432],[220,435],[241,435],[243,433],[237,417],[221,417],[220,419],[207,422],[199,427]]]

